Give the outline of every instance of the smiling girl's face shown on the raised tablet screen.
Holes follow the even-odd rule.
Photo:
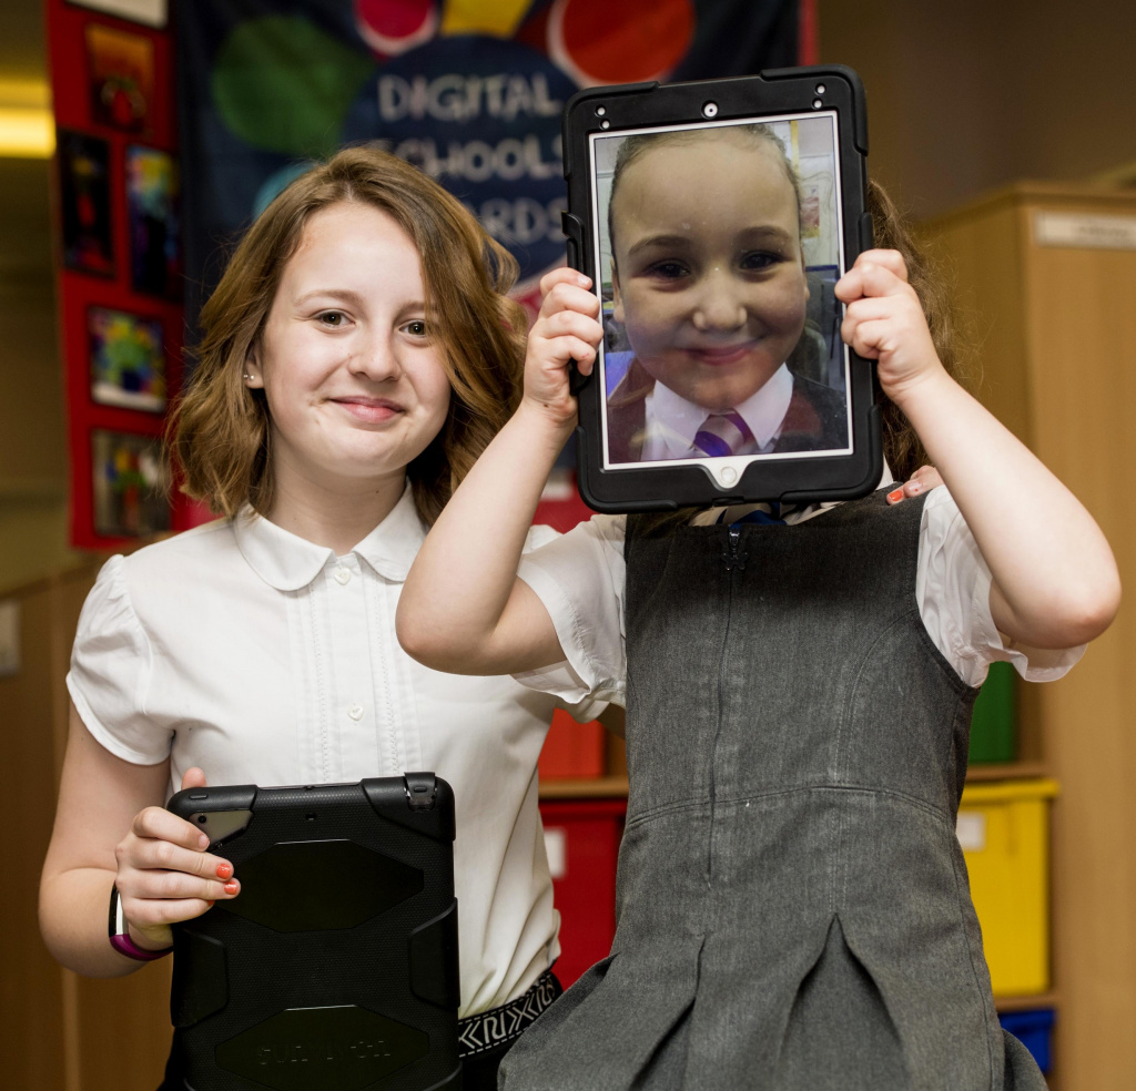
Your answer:
[[[720,129],[660,142],[612,195],[613,317],[651,376],[708,410],[755,394],[804,329],[796,192],[778,154]]]

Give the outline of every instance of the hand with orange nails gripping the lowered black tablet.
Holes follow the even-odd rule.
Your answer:
[[[203,788],[204,773],[187,770],[182,788]],[[173,943],[169,925],[201,916],[214,901],[235,898],[241,884],[233,865],[206,851],[209,838],[165,807],[147,807],[115,848],[115,886],[123,915],[139,946]]]

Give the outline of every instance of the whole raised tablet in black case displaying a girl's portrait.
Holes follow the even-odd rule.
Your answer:
[[[575,384],[588,504],[874,488],[875,375],[841,341],[834,294],[870,245],[855,74],[594,87],[565,117],[569,263],[604,327]]]

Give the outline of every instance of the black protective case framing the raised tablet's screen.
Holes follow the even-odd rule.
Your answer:
[[[628,129],[709,120],[704,104],[715,103],[713,121],[761,120],[762,116],[824,108],[835,111],[841,158],[840,201],[844,216],[845,265],[872,244],[871,218],[866,210],[868,121],[863,85],[842,65],[768,69],[755,76],[735,76],[692,83],[621,84],[587,87],[566,103],[563,169],[568,211],[563,213],[568,265],[601,279],[592,242],[592,191],[588,171],[590,134],[618,136]],[[875,364],[850,353],[849,395],[852,398],[851,455],[755,460],[730,487],[717,485],[699,465],[653,465],[605,469],[600,418],[603,392],[596,372],[573,375],[579,398],[576,430],[577,485],[588,506],[601,512],[674,511],[753,501],[810,503],[854,500],[879,484],[882,436]]]

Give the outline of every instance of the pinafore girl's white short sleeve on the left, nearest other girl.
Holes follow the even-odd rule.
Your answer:
[[[517,574],[548,610],[567,658],[517,681],[569,704],[624,703],[625,528],[623,515],[596,515],[521,559]]]

